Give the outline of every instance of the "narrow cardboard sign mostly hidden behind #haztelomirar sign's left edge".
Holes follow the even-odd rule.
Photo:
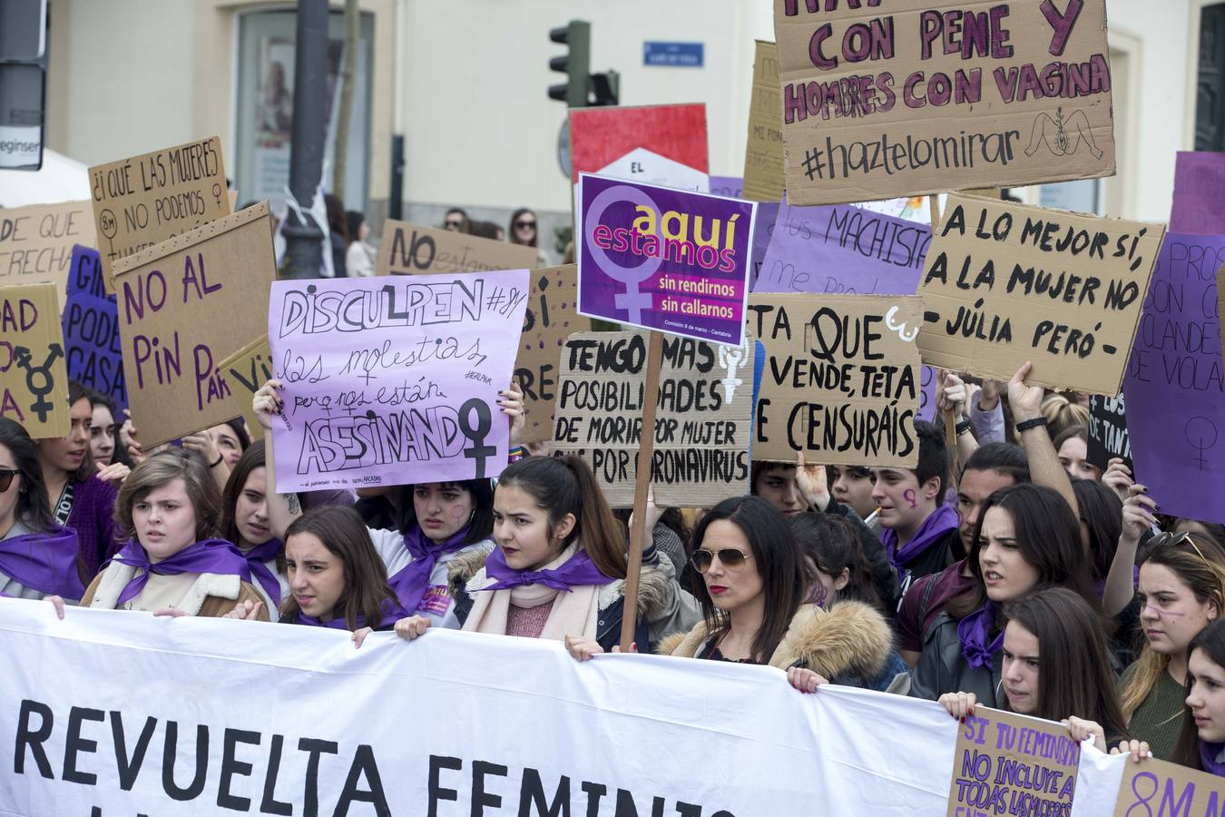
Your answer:
[[[750,201],[783,200],[783,94],[778,85],[778,49],[757,40],[753,54],[753,96],[748,103],[745,181]]]

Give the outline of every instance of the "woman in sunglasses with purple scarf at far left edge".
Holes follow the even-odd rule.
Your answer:
[[[34,441],[0,418],[0,595],[75,601],[86,581],[76,533],[51,517]]]

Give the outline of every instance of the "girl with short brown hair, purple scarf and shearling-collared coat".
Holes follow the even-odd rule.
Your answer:
[[[127,544],[86,589],[82,606],[219,617],[260,601],[246,559],[213,538],[219,510],[217,483],[198,459],[181,450],[148,457],[116,502]]]

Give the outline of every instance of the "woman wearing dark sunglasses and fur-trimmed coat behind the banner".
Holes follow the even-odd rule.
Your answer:
[[[768,664],[807,692],[826,679],[887,692],[909,688],[880,612],[851,599],[828,610],[805,604],[817,579],[769,502],[724,500],[702,517],[693,543],[702,621],[666,639],[660,654]]]

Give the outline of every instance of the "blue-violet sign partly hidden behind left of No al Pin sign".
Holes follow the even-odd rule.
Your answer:
[[[72,247],[69,299],[64,306],[64,354],[69,377],[94,388],[115,403],[115,419],[127,408],[124,383],[124,343],[119,337],[119,309],[108,295],[97,250]]]

